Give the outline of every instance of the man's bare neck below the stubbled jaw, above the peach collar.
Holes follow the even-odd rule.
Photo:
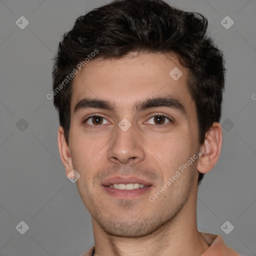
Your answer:
[[[143,237],[116,237],[105,233],[92,218],[95,253],[99,256],[201,255],[209,245],[196,227],[196,193],[190,193],[178,214]]]

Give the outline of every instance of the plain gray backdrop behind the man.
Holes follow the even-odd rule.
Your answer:
[[[93,245],[90,215],[60,162],[58,116],[46,94],[61,35],[85,9],[104,2],[109,1],[0,0],[2,256],[79,256]],[[198,229],[220,234],[241,255],[256,255],[256,1],[168,2],[208,18],[228,69],[223,147],[199,186]],[[22,15],[29,21],[24,29],[15,23]],[[229,29],[221,24],[226,15],[234,21]],[[229,234],[220,228],[226,220],[234,226]],[[24,234],[15,228],[20,221],[29,226]]]

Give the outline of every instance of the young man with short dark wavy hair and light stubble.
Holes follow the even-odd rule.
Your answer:
[[[207,19],[161,0],[116,0],[79,17],[53,67],[58,146],[92,217],[83,255],[238,255],[196,226],[216,164],[224,60]]]

